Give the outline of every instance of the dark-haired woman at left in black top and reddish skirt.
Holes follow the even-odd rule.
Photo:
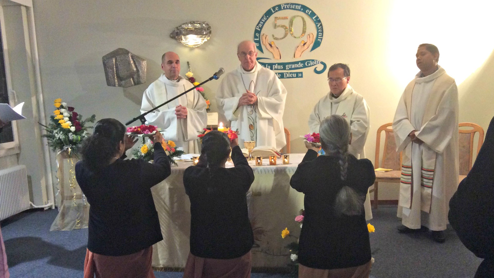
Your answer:
[[[115,119],[101,119],[82,144],[76,179],[91,205],[84,278],[154,278],[152,245],[163,239],[151,187],[170,175],[158,132],[154,163],[123,160],[135,141]]]

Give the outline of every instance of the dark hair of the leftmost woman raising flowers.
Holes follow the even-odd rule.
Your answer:
[[[82,161],[89,169],[96,171],[108,165],[118,151],[119,143],[124,141],[124,125],[111,118],[101,119],[94,125],[93,135],[82,142]]]

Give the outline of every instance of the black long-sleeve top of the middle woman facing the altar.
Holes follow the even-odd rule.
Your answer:
[[[234,168],[207,168],[204,161],[184,172],[190,199],[190,252],[198,257],[233,259],[254,244],[246,193],[254,173],[239,146],[232,148]]]

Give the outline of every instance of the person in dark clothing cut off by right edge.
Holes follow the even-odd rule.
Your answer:
[[[448,219],[465,247],[484,258],[475,278],[494,277],[494,118],[472,170],[450,200]]]

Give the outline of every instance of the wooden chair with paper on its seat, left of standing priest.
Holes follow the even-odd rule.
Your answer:
[[[369,193],[374,192],[374,208],[378,206],[378,184],[383,183],[400,183],[401,178],[401,153],[396,152],[396,141],[391,128],[392,123],[384,124],[377,129],[377,137],[375,140],[375,163],[374,168],[393,169],[389,172],[375,172],[374,188],[369,190]],[[384,131],[384,150],[382,153],[382,161],[379,164],[381,133]]]

